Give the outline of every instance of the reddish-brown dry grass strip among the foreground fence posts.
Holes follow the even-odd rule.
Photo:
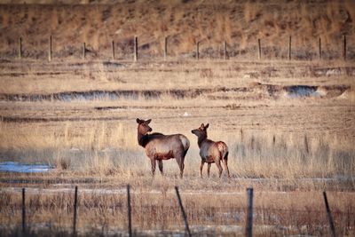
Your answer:
[[[165,181],[166,182],[166,181]],[[30,189],[29,189],[30,190]],[[111,189],[112,190],[112,189]],[[114,190],[113,190],[114,191]],[[79,188],[78,231],[81,235],[100,234],[110,236],[126,233],[127,210],[124,188],[115,189],[116,194],[102,194],[99,190]],[[183,233],[183,221],[175,194],[168,186],[155,193],[146,193],[133,188],[132,221],[135,233],[149,234],[147,230],[164,231],[165,234]],[[121,193],[122,192],[122,193]],[[194,234],[242,235],[245,222],[246,196],[243,193],[203,194],[182,190],[185,210]],[[14,231],[20,226],[20,193],[1,193],[1,229],[4,233]],[[312,199],[310,196],[312,195]],[[32,232],[70,234],[73,217],[72,192],[31,193],[27,194],[28,224]],[[336,232],[343,236],[353,234],[354,195],[351,193],[328,193]],[[255,196],[254,233],[256,236],[289,234],[329,233],[326,211],[320,193],[291,192],[264,193]],[[41,223],[43,227],[38,227]],[[5,228],[4,225],[12,226]],[[201,226],[219,226],[203,228]],[[223,230],[225,226],[225,230]],[[229,229],[227,226],[230,226]],[[229,230],[229,231],[228,231]],[[162,232],[162,233],[164,233]],[[161,233],[161,234],[162,234]],[[151,233],[152,234],[152,233]]]

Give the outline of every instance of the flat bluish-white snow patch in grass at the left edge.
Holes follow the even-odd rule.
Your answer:
[[[0,171],[18,172],[18,173],[42,173],[52,169],[46,164],[23,164],[19,162],[0,162]]]

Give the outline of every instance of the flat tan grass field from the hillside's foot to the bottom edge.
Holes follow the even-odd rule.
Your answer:
[[[72,211],[60,207],[72,205],[79,184],[79,233],[124,234],[123,187],[130,184],[137,234],[183,234],[173,186],[195,234],[242,235],[248,186],[256,190],[256,235],[328,234],[323,190],[336,231],[353,234],[351,62],[23,60],[1,67],[1,160],[55,167],[2,173],[1,219],[12,226],[3,226],[6,233],[20,226],[16,188],[27,186],[33,231],[70,234]],[[164,178],[151,178],[137,117],[190,139],[182,180],[174,160],[163,162]],[[215,166],[211,178],[199,177],[191,130],[201,122],[209,122],[209,138],[230,147],[231,179],[218,179]]]

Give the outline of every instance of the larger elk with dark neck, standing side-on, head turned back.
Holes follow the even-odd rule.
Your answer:
[[[146,156],[150,159],[152,164],[152,175],[155,172],[155,162],[158,162],[159,170],[162,172],[162,161],[175,158],[180,169],[180,178],[183,178],[184,160],[187,150],[190,147],[190,141],[182,134],[164,135],[162,133],[154,132],[149,127],[148,120],[137,119],[138,123],[138,145],[146,149]]]

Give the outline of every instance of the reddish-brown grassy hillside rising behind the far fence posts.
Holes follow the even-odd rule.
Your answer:
[[[293,58],[317,58],[321,37],[324,58],[337,59],[342,57],[343,35],[348,36],[349,57],[355,58],[355,2],[351,0],[19,4],[23,2],[0,4],[3,59],[17,55],[20,36],[24,57],[46,59],[50,35],[55,58],[80,57],[86,42],[90,59],[108,59],[114,40],[117,58],[131,59],[133,36],[138,36],[140,58],[151,58],[162,55],[163,38],[168,36],[170,56],[193,57],[195,43],[200,41],[202,58],[219,58],[226,41],[229,56],[256,59],[260,38],[264,58],[282,59],[288,57],[288,37],[293,36]]]

